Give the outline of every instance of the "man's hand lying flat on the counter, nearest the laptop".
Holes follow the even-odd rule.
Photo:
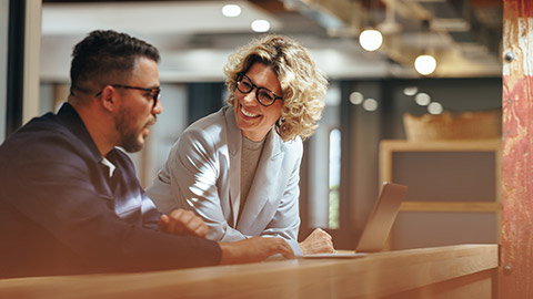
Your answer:
[[[222,249],[220,265],[262,261],[273,255],[294,258],[291,246],[278,237],[253,237],[234,243],[219,243]]]

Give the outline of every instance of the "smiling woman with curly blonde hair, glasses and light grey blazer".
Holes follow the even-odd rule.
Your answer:
[[[302,140],[316,128],[328,81],[283,35],[253,40],[224,66],[228,106],[190,125],[148,194],[158,208],[194,210],[208,238],[284,238],[294,254],[333,251],[313,231],[298,244]]]

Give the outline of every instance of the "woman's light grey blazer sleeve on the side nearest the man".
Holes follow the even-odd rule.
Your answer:
[[[225,194],[223,188],[229,188],[229,184],[218,185],[228,182],[228,177],[220,177],[228,175],[220,169],[224,167],[220,159],[229,159],[227,148],[215,144],[211,134],[214,133],[195,127],[184,131],[148,193],[162,213],[175,208],[195,212],[209,226],[209,239],[242,240],[250,236],[228,224],[230,203],[219,197]]]

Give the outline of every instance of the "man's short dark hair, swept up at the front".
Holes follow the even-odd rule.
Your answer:
[[[123,84],[141,56],[160,60],[158,49],[145,41],[113,30],[90,32],[72,51],[70,93]]]

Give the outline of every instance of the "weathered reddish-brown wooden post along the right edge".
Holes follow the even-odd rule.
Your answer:
[[[533,1],[504,0],[500,298],[533,298]]]

